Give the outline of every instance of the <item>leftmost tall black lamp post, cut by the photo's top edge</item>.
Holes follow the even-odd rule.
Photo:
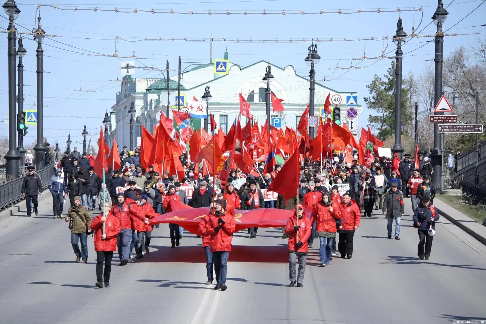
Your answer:
[[[15,32],[14,20],[17,19],[20,10],[17,8],[14,0],[7,0],[2,5],[5,10],[5,14],[8,16],[9,25],[8,31],[8,152],[5,154],[5,160],[7,161],[7,174],[12,178],[18,177],[18,166],[20,155],[17,152],[17,136],[15,132],[17,130],[17,115],[16,115],[16,71],[15,71],[15,56],[17,39]]]

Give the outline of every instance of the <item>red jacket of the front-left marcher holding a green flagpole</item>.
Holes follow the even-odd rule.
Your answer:
[[[102,215],[98,215],[91,221],[91,229],[94,231],[94,250],[95,251],[116,251],[117,250],[117,235],[121,231],[120,219],[113,213],[108,212],[106,221],[104,222],[104,233],[106,239],[102,239],[103,222]]]

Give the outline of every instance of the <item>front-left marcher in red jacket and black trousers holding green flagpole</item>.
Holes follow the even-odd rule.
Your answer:
[[[111,204],[106,202],[106,210],[111,208]],[[104,234],[103,234],[104,222]],[[104,287],[110,287],[111,259],[113,251],[117,250],[117,236],[121,231],[120,219],[113,213],[108,215],[98,215],[89,226],[94,232],[94,250],[98,258],[96,262],[96,287],[102,288],[102,274]],[[103,272],[104,259],[104,272]]]

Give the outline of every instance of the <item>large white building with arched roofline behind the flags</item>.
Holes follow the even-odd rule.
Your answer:
[[[227,52],[225,53],[227,59]],[[215,60],[217,62],[218,60]],[[201,97],[205,93],[205,87],[210,87],[212,96],[209,102],[209,113],[214,115],[214,119],[226,133],[231,123],[240,113],[239,94],[251,104],[250,112],[254,115],[254,121],[258,121],[260,125],[265,123],[265,89],[266,83],[262,81],[265,75],[265,68],[271,67],[274,79],[270,84],[272,92],[282,102],[285,111],[281,113],[274,113],[271,110],[273,117],[282,118],[283,127],[285,125],[296,128],[300,116],[305,110],[309,102],[309,79],[297,75],[292,65],[287,65],[284,68],[269,64],[265,61],[260,61],[242,67],[238,64],[228,62],[227,74],[219,76],[215,74],[214,64],[198,65],[183,73],[181,79],[181,98],[184,97],[185,102],[192,100],[193,97],[203,101]],[[170,109],[176,102],[178,75],[170,78]],[[353,96],[352,91],[337,91],[330,89],[319,83],[315,83],[315,115],[320,116],[319,106],[323,106],[326,97],[338,95],[341,98],[339,106],[341,109],[341,119],[347,123],[347,98]],[[167,111],[167,85],[165,79],[144,79],[138,78],[133,80],[130,76],[123,78],[121,84],[121,92],[117,94],[117,103],[113,105],[111,112],[111,136],[115,136],[119,146],[129,146],[130,136],[130,115],[128,109],[130,103],[135,103],[136,121],[134,130],[134,143],[137,143],[137,136],[140,136],[140,125],[144,125],[150,132],[152,132],[154,124],[158,121],[157,113]],[[354,97],[355,98],[355,97]],[[358,112],[361,112],[362,106],[355,107]],[[172,117],[172,111],[169,114]],[[246,118],[241,117],[242,123],[246,123]],[[356,119],[355,119],[356,120]],[[204,125],[204,119],[191,119],[192,126],[196,129]],[[354,123],[354,132],[357,132],[357,124]]]

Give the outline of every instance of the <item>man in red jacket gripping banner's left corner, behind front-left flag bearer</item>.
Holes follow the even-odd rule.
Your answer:
[[[128,193],[129,197],[135,196],[135,192]],[[118,217],[121,224],[121,231],[117,237],[118,255],[120,256],[120,265],[124,266],[128,263],[130,256],[130,242],[132,240],[132,222],[135,218],[146,224],[149,221],[140,215],[139,206],[135,203],[135,197],[125,200],[125,194],[120,192],[117,195],[117,204],[113,205],[110,211]]]

